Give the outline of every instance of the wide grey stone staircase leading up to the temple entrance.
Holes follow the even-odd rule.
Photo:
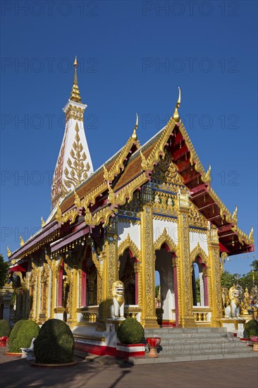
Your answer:
[[[252,346],[242,343],[223,327],[145,329],[145,337],[161,337],[159,357],[149,358],[146,345],[145,357],[129,358],[134,365],[258,356]]]

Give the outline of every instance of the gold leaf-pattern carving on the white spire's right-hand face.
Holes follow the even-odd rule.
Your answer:
[[[87,173],[90,170],[90,164],[89,162],[85,162],[87,156],[83,151],[83,146],[80,142],[78,121],[76,121],[75,124],[75,132],[75,141],[73,142],[72,150],[70,150],[70,157],[73,159],[73,162],[68,158],[67,164],[70,171],[67,167],[63,171],[66,176],[66,179],[63,180],[64,186],[68,189],[72,186],[77,187],[80,185],[80,183],[88,177]],[[64,188],[64,190],[66,190],[66,188]]]

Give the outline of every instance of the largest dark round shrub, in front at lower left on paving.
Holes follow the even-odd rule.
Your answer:
[[[73,362],[74,339],[70,327],[61,320],[47,320],[34,342],[37,363]]]

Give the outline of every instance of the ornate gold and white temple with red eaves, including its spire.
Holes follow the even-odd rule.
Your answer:
[[[121,150],[94,171],[76,68],[51,214],[8,251],[16,320],[59,318],[82,337],[102,333],[121,280],[125,316],[146,328],[220,327],[224,261],[254,250],[253,231],[238,228],[237,209],[231,214],[211,188],[211,166],[204,169],[180,120],[180,89],[164,128],[140,145],[136,119]]]

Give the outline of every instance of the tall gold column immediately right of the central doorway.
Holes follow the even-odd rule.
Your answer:
[[[180,286],[181,290],[181,320],[182,327],[195,326],[195,319],[192,315],[192,262],[190,260],[189,243],[189,198],[188,193],[178,193],[178,243],[180,255]],[[180,305],[178,298],[178,306]]]

